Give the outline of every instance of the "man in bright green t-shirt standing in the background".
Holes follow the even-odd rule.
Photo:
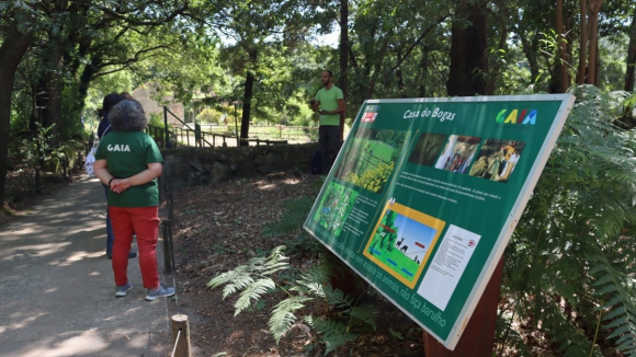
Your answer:
[[[321,82],[325,88],[309,103],[314,112],[320,113],[318,145],[322,154],[322,172],[327,173],[340,150],[340,114],[344,114],[345,106],[342,90],[333,85],[331,71],[322,71]]]

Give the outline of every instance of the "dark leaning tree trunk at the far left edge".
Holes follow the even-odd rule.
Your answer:
[[[18,24],[9,27],[0,46],[0,205],[4,203],[4,184],[9,169],[9,129],[11,125],[11,92],[18,65],[26,53],[33,32],[22,33]]]

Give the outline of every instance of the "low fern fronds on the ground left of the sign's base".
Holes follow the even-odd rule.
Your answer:
[[[275,273],[288,268],[288,264],[284,262],[287,257],[282,254],[284,246],[275,247],[266,258],[254,257],[246,265],[223,273],[213,278],[208,286],[216,288],[225,285],[224,299],[240,291],[239,298],[235,302],[235,315],[247,310],[253,302],[258,302],[265,293],[275,291],[275,288],[284,291],[286,298],[272,309],[268,323],[276,343],[298,321],[296,312],[315,298],[325,300],[332,309],[337,309],[340,314],[345,316],[344,322],[342,322],[330,320],[328,316],[303,315],[303,320],[321,334],[327,347],[326,355],[349,342],[355,341],[357,335],[351,332],[354,321],[376,329],[375,310],[364,304],[357,304],[356,299],[326,285],[332,273],[325,265],[310,268],[288,289],[285,289],[281,283],[276,283],[274,280]]]

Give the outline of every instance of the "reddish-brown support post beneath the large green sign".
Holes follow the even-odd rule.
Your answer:
[[[450,350],[424,331],[424,356],[431,357],[465,357],[492,356],[495,345],[495,330],[497,325],[497,306],[501,287],[503,256],[495,268],[490,281],[486,286],[481,299],[477,303],[470,321],[457,346]]]

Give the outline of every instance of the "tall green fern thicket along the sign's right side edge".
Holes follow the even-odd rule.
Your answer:
[[[613,125],[626,93],[570,91],[575,107],[506,250],[504,296],[565,356],[600,355],[603,339],[634,355],[636,142]]]

